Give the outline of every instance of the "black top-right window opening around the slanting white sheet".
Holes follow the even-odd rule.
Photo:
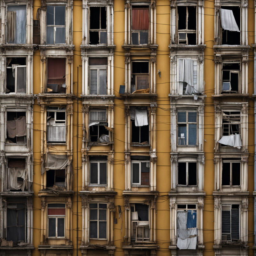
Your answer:
[[[240,16],[241,16],[240,6],[222,6],[221,5],[221,9],[232,10],[236,20],[236,24],[240,30]],[[240,32],[229,31],[223,28],[221,29],[221,31],[222,31],[222,44],[237,44],[237,45],[241,44]]]

